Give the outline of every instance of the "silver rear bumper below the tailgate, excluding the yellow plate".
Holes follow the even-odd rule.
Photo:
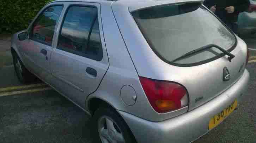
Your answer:
[[[194,110],[162,122],[150,122],[126,112],[118,112],[128,124],[138,143],[193,142],[209,131],[209,120],[215,114],[221,112],[235,99],[239,104],[243,93],[247,90],[249,77],[249,72],[245,70],[243,76],[218,97]]]

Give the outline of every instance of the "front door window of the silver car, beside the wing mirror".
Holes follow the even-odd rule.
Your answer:
[[[63,6],[51,6],[46,8],[33,23],[30,38],[51,46],[55,26],[60,18],[62,9]]]

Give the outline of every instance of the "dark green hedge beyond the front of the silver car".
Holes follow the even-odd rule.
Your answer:
[[[0,0],[0,33],[26,29],[29,20],[50,1],[53,0]]]

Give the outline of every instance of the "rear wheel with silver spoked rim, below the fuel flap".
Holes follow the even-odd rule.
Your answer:
[[[110,107],[100,107],[95,111],[92,130],[93,143],[136,143],[126,122]]]

